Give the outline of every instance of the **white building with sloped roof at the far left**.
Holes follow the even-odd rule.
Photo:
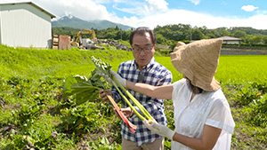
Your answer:
[[[53,18],[53,14],[31,2],[0,2],[0,44],[51,48]]]

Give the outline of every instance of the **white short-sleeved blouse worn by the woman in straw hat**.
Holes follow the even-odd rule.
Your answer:
[[[221,89],[204,91],[190,101],[192,92],[188,80],[182,79],[173,84],[175,131],[190,138],[202,138],[204,125],[222,129],[213,150],[231,149],[231,134],[235,122],[231,109]],[[172,141],[172,150],[190,150],[179,142]]]

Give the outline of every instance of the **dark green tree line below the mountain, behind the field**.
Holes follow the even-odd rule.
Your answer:
[[[111,39],[111,40],[123,40],[127,41],[133,30],[121,30],[120,28],[106,28],[106,29],[94,29],[98,39]],[[53,28],[54,35],[71,36],[76,38],[78,31],[83,28]],[[243,39],[245,45],[267,45],[267,29],[255,29],[255,28],[214,28],[209,29],[204,27],[191,27],[185,24],[174,24],[166,26],[157,26],[154,28],[154,32],[157,36],[158,44],[172,45],[177,41],[184,43],[190,43],[191,40],[200,40],[208,38],[216,38],[221,36],[232,36]],[[91,35],[83,35],[84,38],[90,38]]]

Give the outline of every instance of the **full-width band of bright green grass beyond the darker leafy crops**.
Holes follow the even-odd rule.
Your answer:
[[[42,76],[65,77],[67,75],[89,75],[93,70],[91,56],[109,62],[116,71],[125,60],[134,59],[132,51],[58,51],[36,49],[13,49],[0,45],[0,76],[39,78]],[[155,56],[173,74],[174,82],[182,78],[170,57]],[[267,78],[266,55],[220,56],[215,78],[225,84],[242,84]]]

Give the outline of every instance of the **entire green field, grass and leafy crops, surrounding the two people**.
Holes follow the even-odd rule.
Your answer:
[[[0,149],[120,149],[120,120],[101,99],[77,106],[62,99],[69,75],[90,77],[90,57],[109,62],[133,59],[131,51],[13,49],[0,45]],[[174,81],[182,78],[169,57],[156,54]],[[236,122],[231,149],[267,146],[267,56],[221,56],[215,78],[221,83]],[[166,100],[168,126],[174,128],[172,100]],[[166,139],[166,149],[170,141]]]

